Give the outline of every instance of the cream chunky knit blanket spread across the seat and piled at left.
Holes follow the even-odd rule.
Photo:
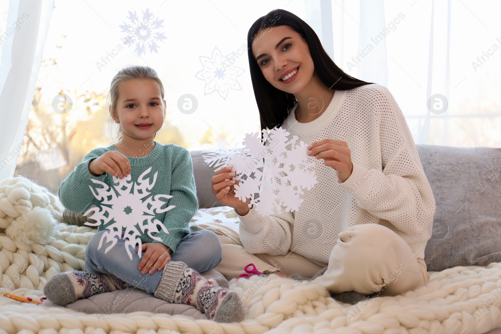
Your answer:
[[[32,198],[37,199],[37,206]],[[34,242],[33,230],[26,235],[14,233],[9,236],[6,230],[17,223],[48,230],[43,224],[26,225],[26,221],[20,219],[33,213],[36,207],[56,217],[52,219],[54,229],[47,237],[48,242]],[[45,212],[43,210],[39,213]],[[54,274],[84,269],[85,247],[96,229],[60,222],[62,210],[54,195],[27,179],[0,182],[2,292],[40,299],[45,283]],[[238,221],[233,211],[225,207],[199,210],[193,221],[207,221],[211,216],[213,221],[228,226]],[[103,317],[102,314],[21,303],[0,296],[0,333],[473,334],[501,326],[501,263],[486,267],[454,267],[430,275],[430,282],[414,291],[396,297],[376,297],[355,305],[342,304],[320,285],[307,281],[276,275],[235,278],[230,281],[230,288],[241,296],[245,310],[245,319],[239,323],[216,323],[184,315],[149,312]]]

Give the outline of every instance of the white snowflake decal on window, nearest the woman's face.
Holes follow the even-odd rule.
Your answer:
[[[203,69],[195,77],[205,81],[204,95],[217,92],[223,100],[226,100],[230,89],[241,91],[236,77],[243,73],[243,69],[233,65],[235,57],[237,56],[234,52],[223,57],[217,47],[212,51],[211,58],[199,57]]]

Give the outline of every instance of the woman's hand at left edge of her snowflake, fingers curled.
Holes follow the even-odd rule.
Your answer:
[[[249,212],[250,199],[247,198],[246,202],[243,202],[235,197],[235,184],[240,181],[230,180],[234,176],[235,172],[231,171],[231,166],[216,170],[211,180],[211,191],[219,202],[236,209],[240,216],[244,216]]]

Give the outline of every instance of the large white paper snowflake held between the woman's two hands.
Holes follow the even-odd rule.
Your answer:
[[[234,154],[230,160],[232,171],[236,172],[235,197],[254,205],[263,216],[298,210],[304,190],[310,190],[317,183],[313,170],[315,158],[308,156],[307,144],[298,136],[289,139],[289,132],[274,128],[270,134],[246,134],[242,154]],[[250,157],[246,154],[249,154]]]

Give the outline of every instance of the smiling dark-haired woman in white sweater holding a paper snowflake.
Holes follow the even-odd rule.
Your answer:
[[[344,73],[312,28],[284,10],[259,18],[247,46],[262,128],[282,126],[310,143],[318,183],[296,212],[262,217],[234,197],[230,168],[216,171],[212,193],[235,208],[245,248],[223,244],[216,269],[231,276],[242,263],[265,272],[278,265],[319,276],[332,293],[394,295],[426,284],[435,202],[388,89]]]

